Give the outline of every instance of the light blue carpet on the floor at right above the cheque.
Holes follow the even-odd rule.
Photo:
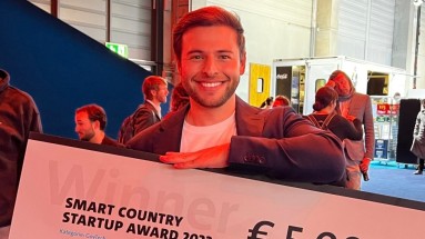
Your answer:
[[[373,161],[371,180],[362,182],[362,191],[425,202],[425,175],[414,171],[412,165]]]

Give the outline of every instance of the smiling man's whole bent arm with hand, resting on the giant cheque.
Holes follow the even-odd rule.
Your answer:
[[[245,173],[293,181],[330,183],[342,179],[345,158],[335,136],[315,128],[295,112],[287,113],[282,123],[275,125],[276,131],[279,128],[284,131],[279,132],[279,138],[234,136],[230,145],[196,152],[168,152],[160,160],[179,169],[230,166]]]

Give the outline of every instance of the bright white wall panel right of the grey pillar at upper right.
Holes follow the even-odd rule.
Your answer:
[[[341,0],[337,54],[392,64],[395,0]]]

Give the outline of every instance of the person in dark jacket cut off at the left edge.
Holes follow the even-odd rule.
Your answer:
[[[36,102],[10,86],[9,73],[0,69],[0,239],[9,238],[30,131],[42,132]]]

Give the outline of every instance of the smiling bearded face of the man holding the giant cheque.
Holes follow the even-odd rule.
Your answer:
[[[183,34],[179,71],[188,94],[200,106],[223,106],[244,70],[245,53],[241,57],[233,29],[196,27]]]

